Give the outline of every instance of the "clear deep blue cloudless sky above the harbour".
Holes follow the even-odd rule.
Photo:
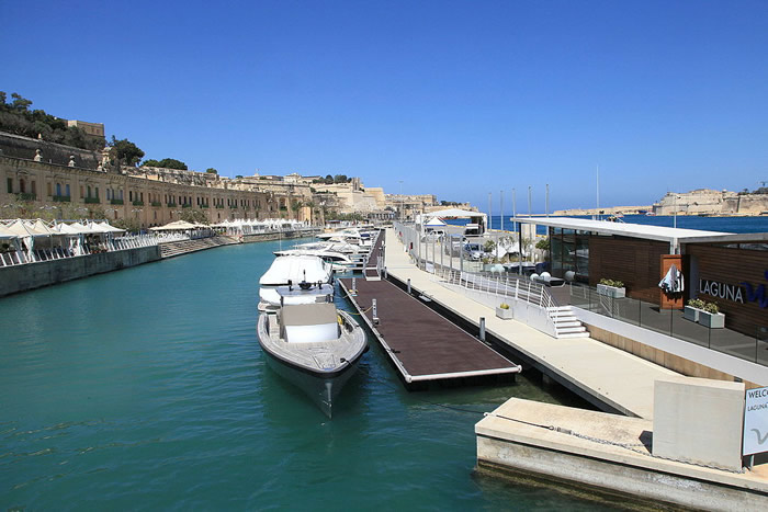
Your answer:
[[[768,180],[768,2],[0,3],[0,90],[224,175],[498,209]]]

